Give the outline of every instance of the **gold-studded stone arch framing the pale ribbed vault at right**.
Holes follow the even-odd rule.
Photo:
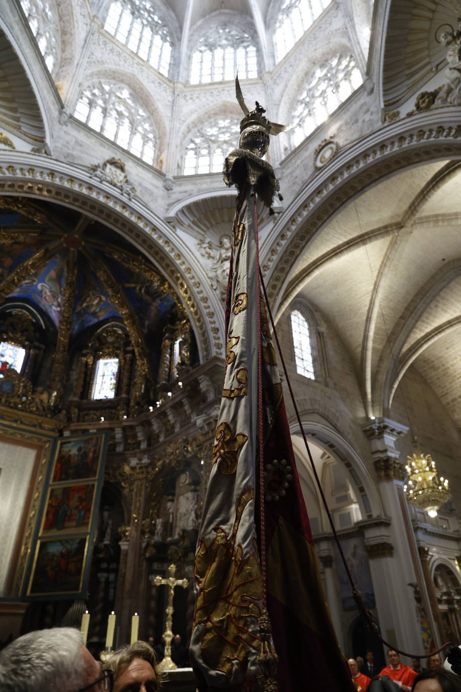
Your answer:
[[[277,315],[302,287],[299,276],[292,275],[299,253],[341,208],[396,172],[429,161],[459,160],[460,138],[461,126],[455,121],[454,111],[444,122],[434,113],[429,122],[426,118],[424,122],[421,118],[398,122],[386,128],[384,137],[378,131],[338,154],[331,166],[326,165],[315,180],[308,181],[267,238],[266,247],[270,248],[281,228],[287,234],[279,253],[267,257],[263,264],[263,271],[270,275],[268,293]]]

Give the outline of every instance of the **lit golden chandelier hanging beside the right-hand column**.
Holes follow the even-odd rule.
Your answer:
[[[439,478],[430,454],[413,454],[412,457],[406,457],[406,460],[406,497],[411,504],[424,509],[430,517],[436,517],[442,504],[451,498],[448,480],[442,476]]]

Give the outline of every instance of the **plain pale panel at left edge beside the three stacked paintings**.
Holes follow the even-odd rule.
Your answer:
[[[23,512],[28,509],[30,482],[38,447],[0,439],[0,595],[6,595],[8,573],[21,540]]]

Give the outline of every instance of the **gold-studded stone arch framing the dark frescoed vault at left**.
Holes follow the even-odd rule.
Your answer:
[[[0,168],[0,194],[46,197],[100,219],[128,237],[177,293],[191,320],[200,362],[222,352],[223,327],[214,319],[207,291],[203,290],[207,278],[205,274],[198,276],[191,271],[188,266],[192,262],[190,250],[178,242],[168,224],[135,199],[120,199],[120,193],[112,193],[109,185],[96,182],[83,170],[73,170],[69,174],[67,165],[47,156],[12,152],[6,153],[5,158],[11,163],[7,168]],[[196,281],[197,278],[201,281]]]

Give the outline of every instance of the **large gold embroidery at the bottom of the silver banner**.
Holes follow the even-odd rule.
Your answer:
[[[229,677],[234,662],[243,662],[249,648],[259,648],[259,637],[250,631],[251,620],[261,615],[261,568],[256,540],[246,557],[241,543],[235,545],[243,510],[253,498],[252,488],[241,495],[229,537],[223,528],[216,527],[216,538],[209,545],[200,540],[194,563],[199,588],[194,628],[204,625],[200,644],[203,660],[212,670],[223,671]]]

